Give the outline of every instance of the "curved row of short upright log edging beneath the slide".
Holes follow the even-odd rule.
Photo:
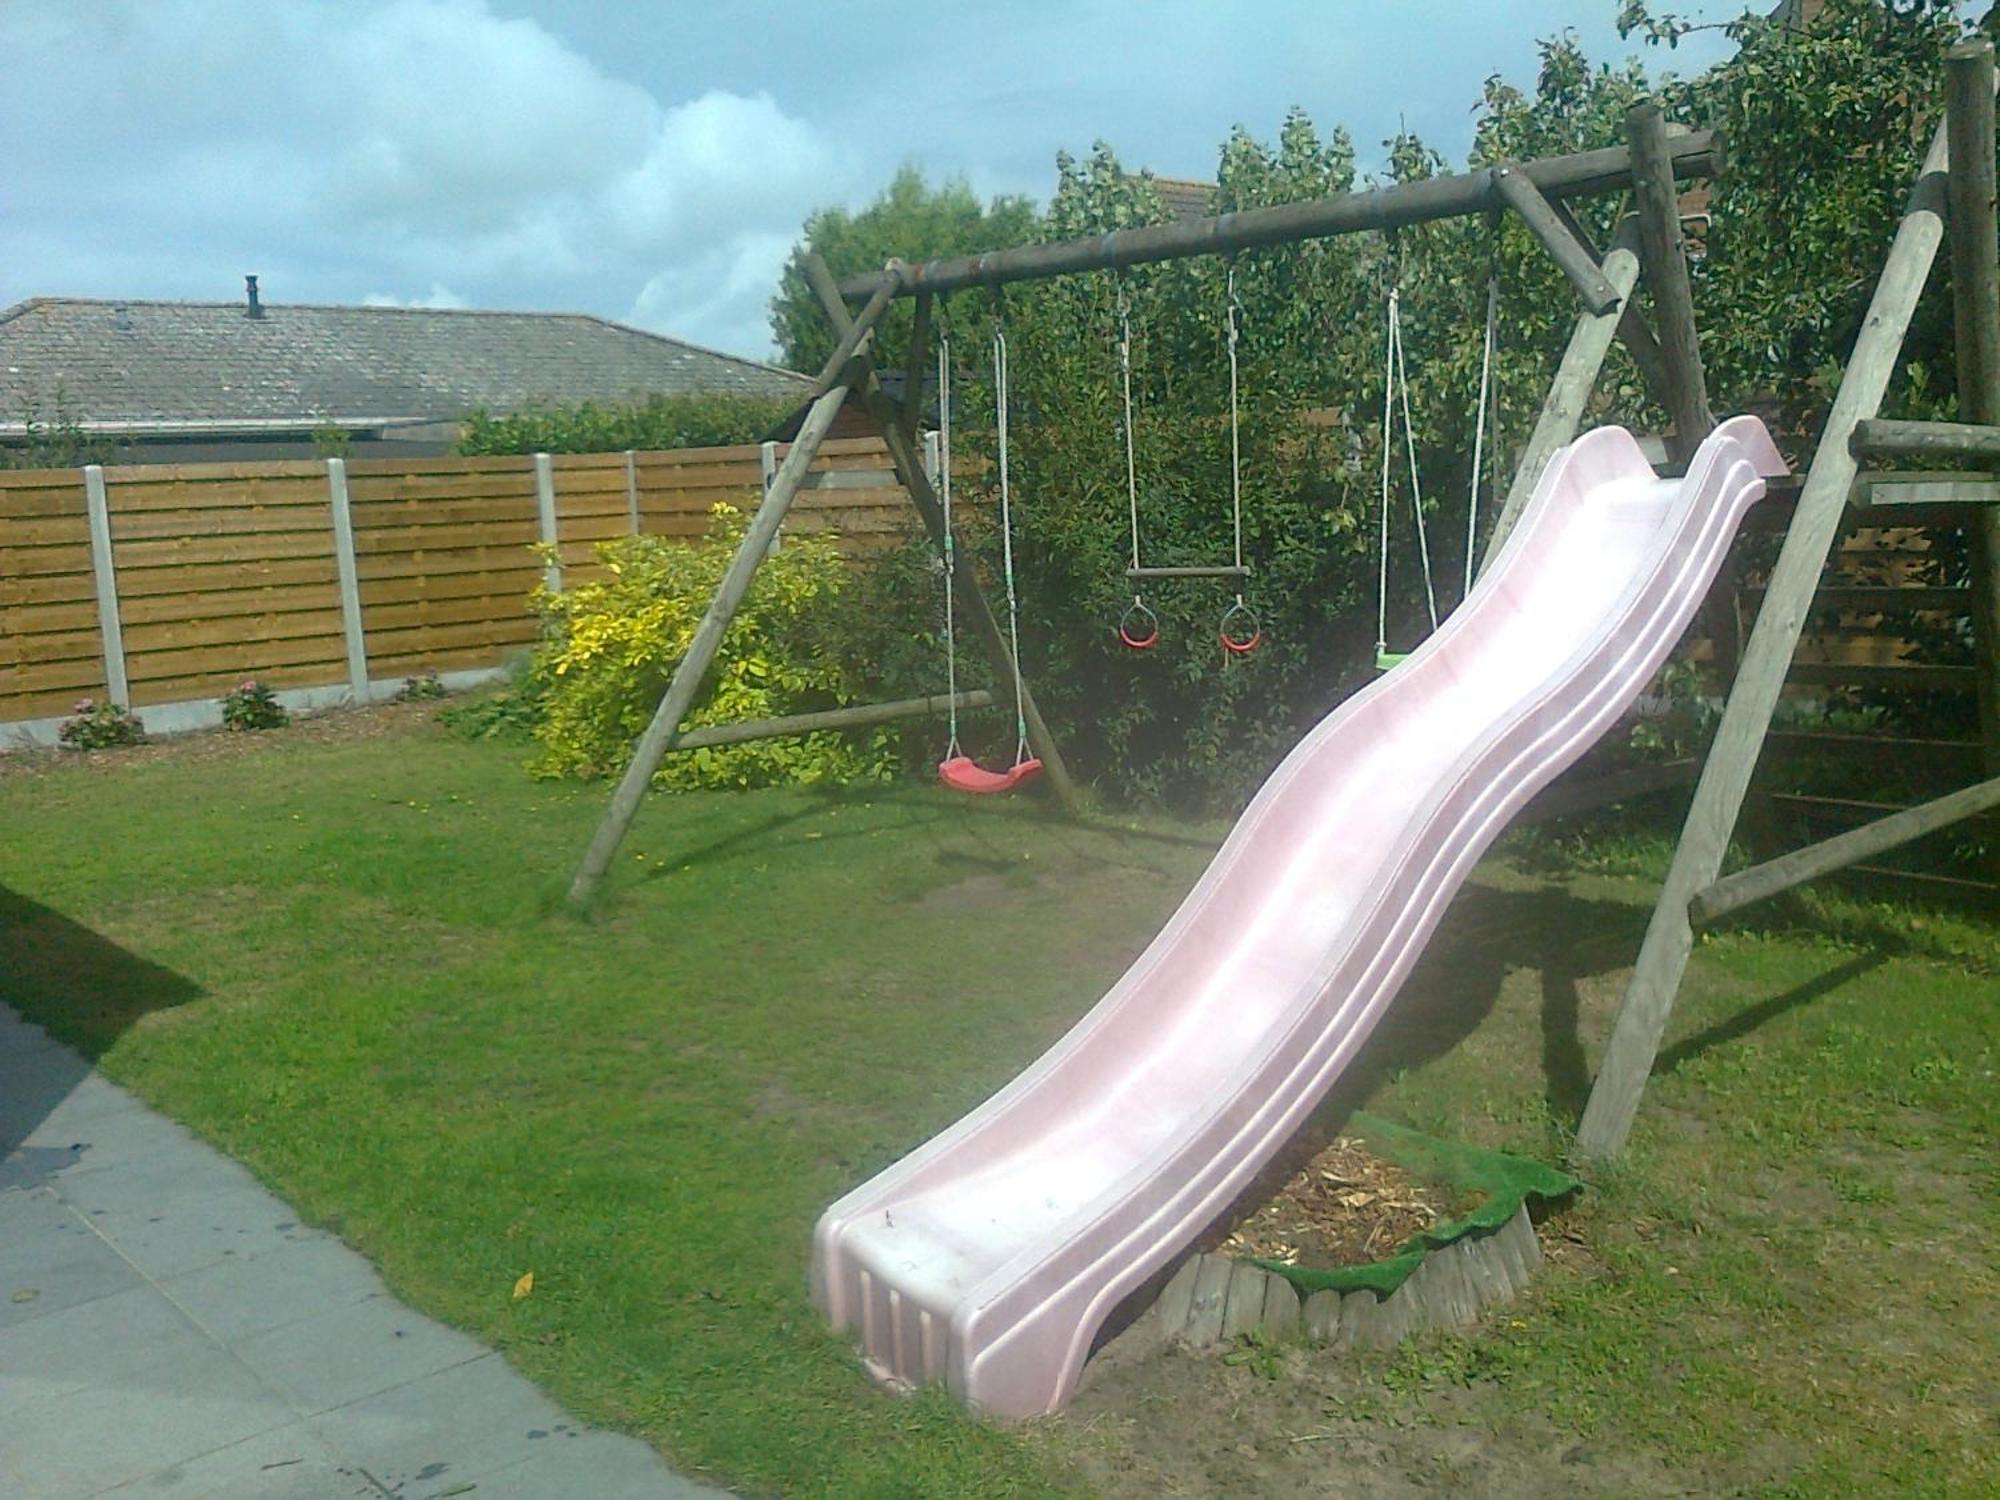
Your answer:
[[[1242,1334],[1304,1338],[1334,1348],[1394,1348],[1426,1328],[1470,1328],[1488,1308],[1512,1302],[1542,1264],[1542,1242],[1522,1204],[1502,1228],[1466,1234],[1424,1254],[1392,1294],[1312,1292],[1300,1298],[1284,1276],[1218,1254],[1194,1254],[1152,1306],[1158,1332],[1194,1348]]]

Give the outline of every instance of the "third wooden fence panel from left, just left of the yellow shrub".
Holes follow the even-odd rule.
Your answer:
[[[532,458],[348,468],[370,678],[498,666],[534,640]]]

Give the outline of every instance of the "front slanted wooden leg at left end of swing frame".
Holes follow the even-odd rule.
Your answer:
[[[742,604],[744,594],[750,592],[750,580],[756,576],[758,564],[764,562],[764,554],[770,552],[770,542],[778,534],[778,524],[784,520],[784,512],[792,504],[792,496],[798,494],[798,482],[806,478],[806,470],[812,468],[814,454],[820,452],[820,442],[826,438],[828,428],[832,428],[834,418],[840,414],[840,406],[848,398],[848,386],[866,368],[866,354],[862,346],[856,346],[854,360],[848,364],[846,376],[826,390],[806,412],[806,420],[792,438],[792,450],[784,456],[784,464],[778,468],[778,478],[764,496],[764,502],[756,508],[756,516],[750,518],[750,530],[744,532],[744,540],[736,546],[736,556],[730,558],[730,570],[722,576],[722,586],[716,588],[716,596],[708,600],[708,612],[702,614],[702,622],[694,626],[694,638],[688,642],[688,652],[680,658],[674,668],[674,680],[666,684],[666,696],[660,698],[660,706],[654,710],[652,722],[640,736],[638,746],[632,750],[632,762],[626,766],[624,776],[618,780],[618,790],[612,792],[612,804],[604,812],[604,822],[598,824],[598,832],[590,840],[590,848],[584,852],[584,862],[576,866],[576,878],[570,880],[570,906],[582,906],[590,900],[590,894],[598,888],[598,880],[610,868],[612,856],[618,852],[618,844],[624,842],[626,830],[632,826],[632,818],[638,814],[638,804],[646,798],[646,788],[652,786],[652,774],[660,770],[660,760],[668,750],[674,748],[680,738],[680,720],[688,716],[688,708],[694,704],[694,694],[700,692],[702,678],[708,676],[710,662],[716,660],[716,648],[722,646],[722,632],[728,630],[730,618],[736,614],[736,606]]]

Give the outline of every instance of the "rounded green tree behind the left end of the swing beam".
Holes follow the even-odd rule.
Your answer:
[[[982,204],[964,178],[932,188],[916,166],[904,166],[882,196],[858,214],[820,208],[806,220],[800,250],[816,250],[834,276],[882,270],[892,258],[926,260],[1006,250],[1036,238],[1034,204],[1028,198],[998,196]],[[912,304],[888,310],[876,334],[876,362],[900,370],[910,354]],[[770,332],[778,342],[778,362],[816,374],[834,352],[820,302],[794,266],[786,266],[778,294],[770,300]]]

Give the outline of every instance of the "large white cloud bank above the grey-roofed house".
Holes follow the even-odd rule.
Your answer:
[[[858,178],[770,94],[662,98],[486,0],[8,14],[0,138],[0,300],[262,270],[272,302],[630,310],[742,352],[806,212]]]

